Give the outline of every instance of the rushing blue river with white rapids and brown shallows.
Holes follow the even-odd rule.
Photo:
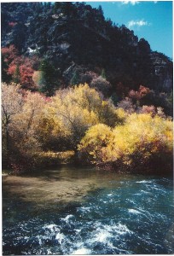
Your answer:
[[[174,253],[171,177],[60,167],[3,177],[3,255]]]

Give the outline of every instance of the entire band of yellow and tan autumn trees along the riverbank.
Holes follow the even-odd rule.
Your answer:
[[[116,172],[172,167],[172,121],[161,108],[143,106],[139,113],[115,108],[88,84],[52,97],[2,84],[2,125],[3,165],[15,173],[56,164],[61,160],[56,152],[66,151],[71,161],[74,155],[83,164]]]

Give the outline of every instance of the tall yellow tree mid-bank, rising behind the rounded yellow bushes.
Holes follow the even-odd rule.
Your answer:
[[[118,120],[115,108],[109,102],[102,101],[99,93],[88,84],[58,90],[52,106],[74,148],[90,126],[98,123],[114,126]]]

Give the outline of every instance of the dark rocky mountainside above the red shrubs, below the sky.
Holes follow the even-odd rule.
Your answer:
[[[22,55],[46,57],[66,84],[77,70],[104,69],[113,89],[121,82],[130,89],[172,90],[169,58],[84,3],[2,3],[2,46],[9,44]]]

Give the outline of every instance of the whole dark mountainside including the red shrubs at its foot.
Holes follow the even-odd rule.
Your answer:
[[[126,26],[106,20],[101,6],[55,2],[1,7],[4,83],[46,96],[87,83],[115,105],[143,85],[154,96],[147,104],[172,115],[172,61]]]

